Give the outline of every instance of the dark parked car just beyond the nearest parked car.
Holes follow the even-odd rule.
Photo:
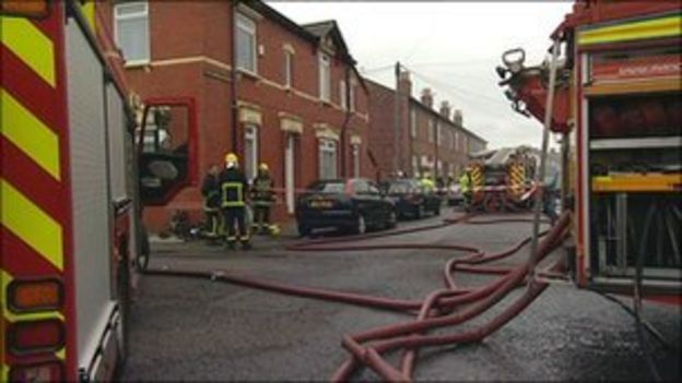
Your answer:
[[[435,192],[427,192],[415,179],[395,179],[381,184],[386,194],[396,204],[399,217],[421,218],[426,213],[440,214],[442,199]]]

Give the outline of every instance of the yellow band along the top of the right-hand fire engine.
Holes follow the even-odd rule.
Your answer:
[[[644,38],[679,36],[682,28],[682,15],[643,20],[620,25],[609,25],[578,34],[579,45],[615,43]]]

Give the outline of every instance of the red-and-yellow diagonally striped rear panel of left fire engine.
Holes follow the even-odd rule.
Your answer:
[[[70,328],[71,192],[69,179],[66,83],[63,76],[63,4],[51,2],[42,20],[0,16],[0,336],[9,323],[55,318],[67,326],[67,347],[54,356],[67,361],[72,352]],[[16,313],[7,306],[7,287],[25,277],[58,277],[67,286],[60,311]],[[0,381],[12,364],[30,362],[0,350]],[[73,359],[73,358],[71,358]],[[74,371],[67,362],[67,370]],[[74,379],[68,373],[68,379]]]

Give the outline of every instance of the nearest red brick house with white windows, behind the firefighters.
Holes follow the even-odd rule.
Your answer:
[[[293,213],[296,190],[318,178],[374,176],[367,87],[336,22],[298,25],[261,1],[98,8],[133,92],[191,97],[197,106],[195,177],[164,206],[145,208],[152,231],[166,228],[175,210],[200,217],[201,178],[231,151],[249,177],[259,163],[270,166],[280,222]]]

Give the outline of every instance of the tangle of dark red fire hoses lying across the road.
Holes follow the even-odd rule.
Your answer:
[[[400,236],[409,232],[434,230],[456,224],[489,225],[501,222],[529,222],[519,218],[503,218],[487,220],[471,220],[470,215],[460,218],[445,219],[443,223],[418,228],[397,229],[383,234],[371,234],[363,236],[352,236],[339,239],[310,240],[290,244],[287,250],[293,251],[372,251],[387,249],[430,249],[450,250],[465,252],[449,260],[444,267],[443,276],[445,288],[431,292],[423,301],[401,300],[385,297],[367,296],[338,290],[320,288],[301,287],[247,275],[237,275],[224,271],[180,271],[180,270],[146,270],[144,273],[157,276],[176,276],[191,278],[209,278],[215,282],[251,287],[284,295],[307,297],[326,301],[344,302],[355,306],[371,307],[377,309],[392,310],[398,312],[414,313],[416,319],[390,326],[374,328],[363,333],[345,335],[342,337],[342,346],[351,354],[348,359],[332,376],[333,382],[348,381],[361,364],[374,370],[379,376],[388,381],[410,381],[416,361],[416,351],[422,347],[434,347],[454,343],[480,342],[487,335],[494,333],[513,318],[518,315],[528,307],[546,287],[546,282],[528,278],[531,273],[531,264],[538,265],[553,249],[555,249],[564,238],[566,229],[571,223],[571,215],[566,212],[551,228],[551,230],[540,234],[543,240],[539,243],[538,251],[532,254],[531,260],[515,267],[483,266],[483,263],[498,261],[516,253],[526,244],[530,243],[531,237],[521,240],[510,249],[497,253],[486,254],[474,247],[460,244],[419,244],[419,243],[391,243],[391,244],[345,244],[358,240],[372,238],[385,238]],[[563,260],[553,264],[548,271],[542,273],[556,272],[562,268]],[[454,273],[456,271],[465,273],[481,273],[502,275],[494,282],[477,288],[459,288],[455,283]],[[426,335],[427,331],[452,326],[465,323],[483,314],[490,308],[503,300],[517,287],[527,284],[524,295],[511,306],[506,308],[499,315],[489,323],[472,331],[456,333],[450,335]],[[467,304],[462,308],[462,306]],[[458,310],[459,309],[459,310]],[[457,310],[457,312],[456,312]],[[372,343],[371,343],[372,342]],[[365,344],[365,345],[364,345]],[[396,349],[403,349],[400,361],[400,369],[396,369],[388,363],[383,354]]]

